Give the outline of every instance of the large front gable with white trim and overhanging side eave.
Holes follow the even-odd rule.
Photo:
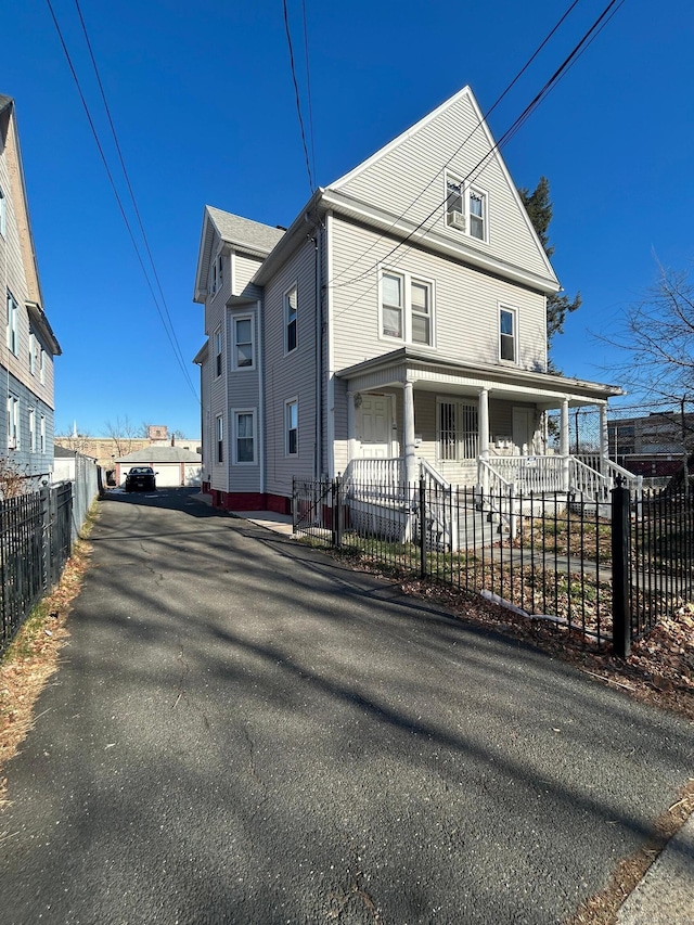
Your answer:
[[[459,181],[474,179],[488,193],[494,217],[489,241],[480,242],[447,226],[449,174]],[[316,222],[327,211],[537,292],[561,288],[470,87],[348,174],[319,188],[254,282],[266,283],[306,236],[306,220],[310,217]]]

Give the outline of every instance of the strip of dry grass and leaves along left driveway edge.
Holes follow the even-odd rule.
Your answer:
[[[89,517],[82,536],[88,536],[92,523]],[[0,808],[8,802],[3,768],[38,719],[34,707],[60,665],[60,652],[68,637],[67,615],[81,587],[90,553],[85,539],[74,544],[59,584],[37,604],[0,661]]]

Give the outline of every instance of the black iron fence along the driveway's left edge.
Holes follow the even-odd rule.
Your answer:
[[[0,653],[57,582],[72,550],[73,483],[0,500]]]

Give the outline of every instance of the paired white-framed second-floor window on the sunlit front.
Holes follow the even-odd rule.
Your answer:
[[[434,345],[434,286],[410,273],[381,274],[381,336]]]

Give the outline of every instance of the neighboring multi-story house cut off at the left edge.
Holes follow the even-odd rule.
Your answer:
[[[0,94],[0,288],[5,345],[0,350],[0,455],[28,477],[53,465],[53,358],[61,348],[43,311],[14,101]]]

